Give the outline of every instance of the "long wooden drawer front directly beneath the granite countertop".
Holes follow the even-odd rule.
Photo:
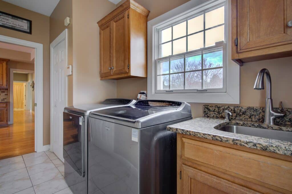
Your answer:
[[[182,138],[181,149],[182,159],[292,191],[291,162],[188,138]]]

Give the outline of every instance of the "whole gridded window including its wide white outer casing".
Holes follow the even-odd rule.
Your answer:
[[[191,0],[148,22],[148,97],[238,104],[239,66],[227,50],[229,5],[198,3]]]

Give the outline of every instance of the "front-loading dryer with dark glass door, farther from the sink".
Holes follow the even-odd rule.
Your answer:
[[[87,134],[88,115],[91,111],[132,105],[132,99],[106,99],[99,104],[65,107],[63,112],[63,157],[65,180],[74,194],[88,192]]]

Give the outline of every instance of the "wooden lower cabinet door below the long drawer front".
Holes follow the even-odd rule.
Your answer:
[[[182,194],[258,193],[225,179],[182,165]]]

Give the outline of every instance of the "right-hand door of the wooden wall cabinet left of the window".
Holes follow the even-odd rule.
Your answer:
[[[128,10],[112,20],[112,74],[128,72]]]

